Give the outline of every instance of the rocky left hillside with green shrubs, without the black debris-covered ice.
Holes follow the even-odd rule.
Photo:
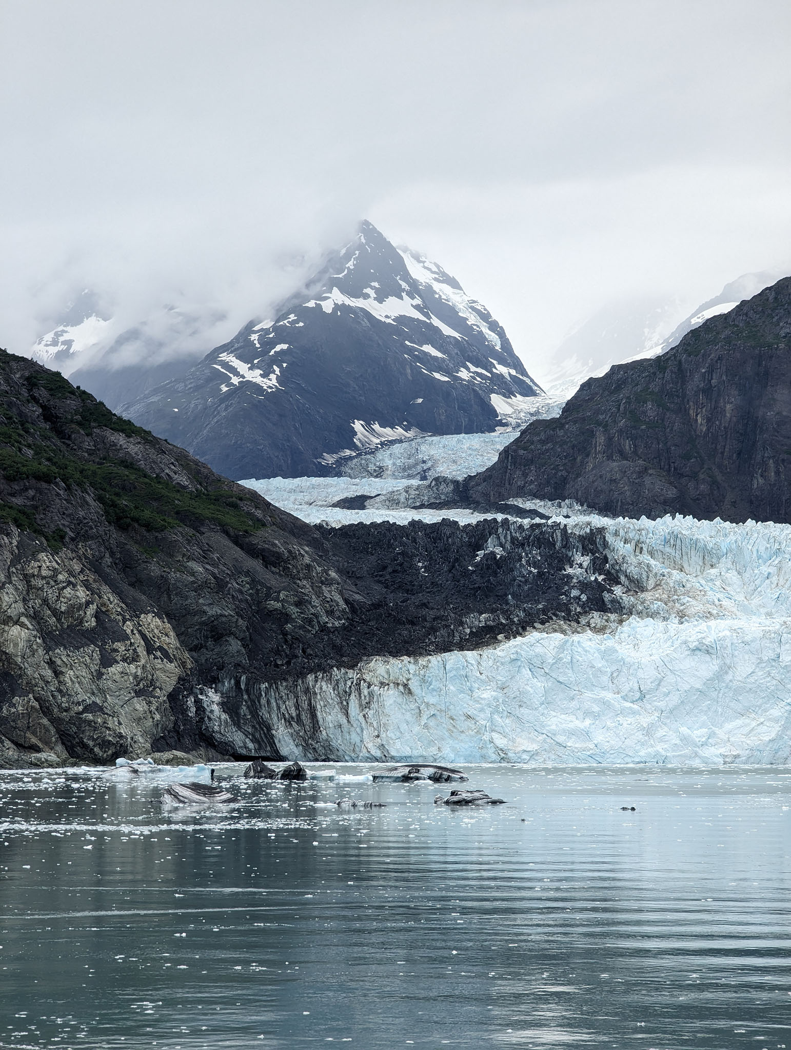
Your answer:
[[[276,674],[300,636],[348,617],[320,547],[56,373],[0,353],[0,764],[211,748],[194,724],[174,732],[176,705],[257,647]]]

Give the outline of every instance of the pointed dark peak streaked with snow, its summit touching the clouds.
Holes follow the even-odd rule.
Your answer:
[[[494,430],[540,393],[484,307],[363,223],[273,321],[123,411],[230,478],[299,477],[409,435]]]

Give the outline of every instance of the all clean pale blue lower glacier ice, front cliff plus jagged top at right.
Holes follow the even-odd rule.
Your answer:
[[[267,686],[258,702],[280,751],[334,761],[788,763],[791,527],[564,522],[601,529],[625,613]],[[312,738],[300,730],[306,704],[319,727]]]

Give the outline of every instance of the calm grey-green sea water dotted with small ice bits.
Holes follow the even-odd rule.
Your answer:
[[[791,771],[241,769],[0,774],[0,1046],[791,1047]]]

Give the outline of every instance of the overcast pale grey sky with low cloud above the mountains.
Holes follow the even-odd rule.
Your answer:
[[[791,261],[788,0],[0,12],[9,350],[87,285],[130,320],[218,306],[230,335],[361,217],[455,273],[539,376],[609,300],[691,307]]]

